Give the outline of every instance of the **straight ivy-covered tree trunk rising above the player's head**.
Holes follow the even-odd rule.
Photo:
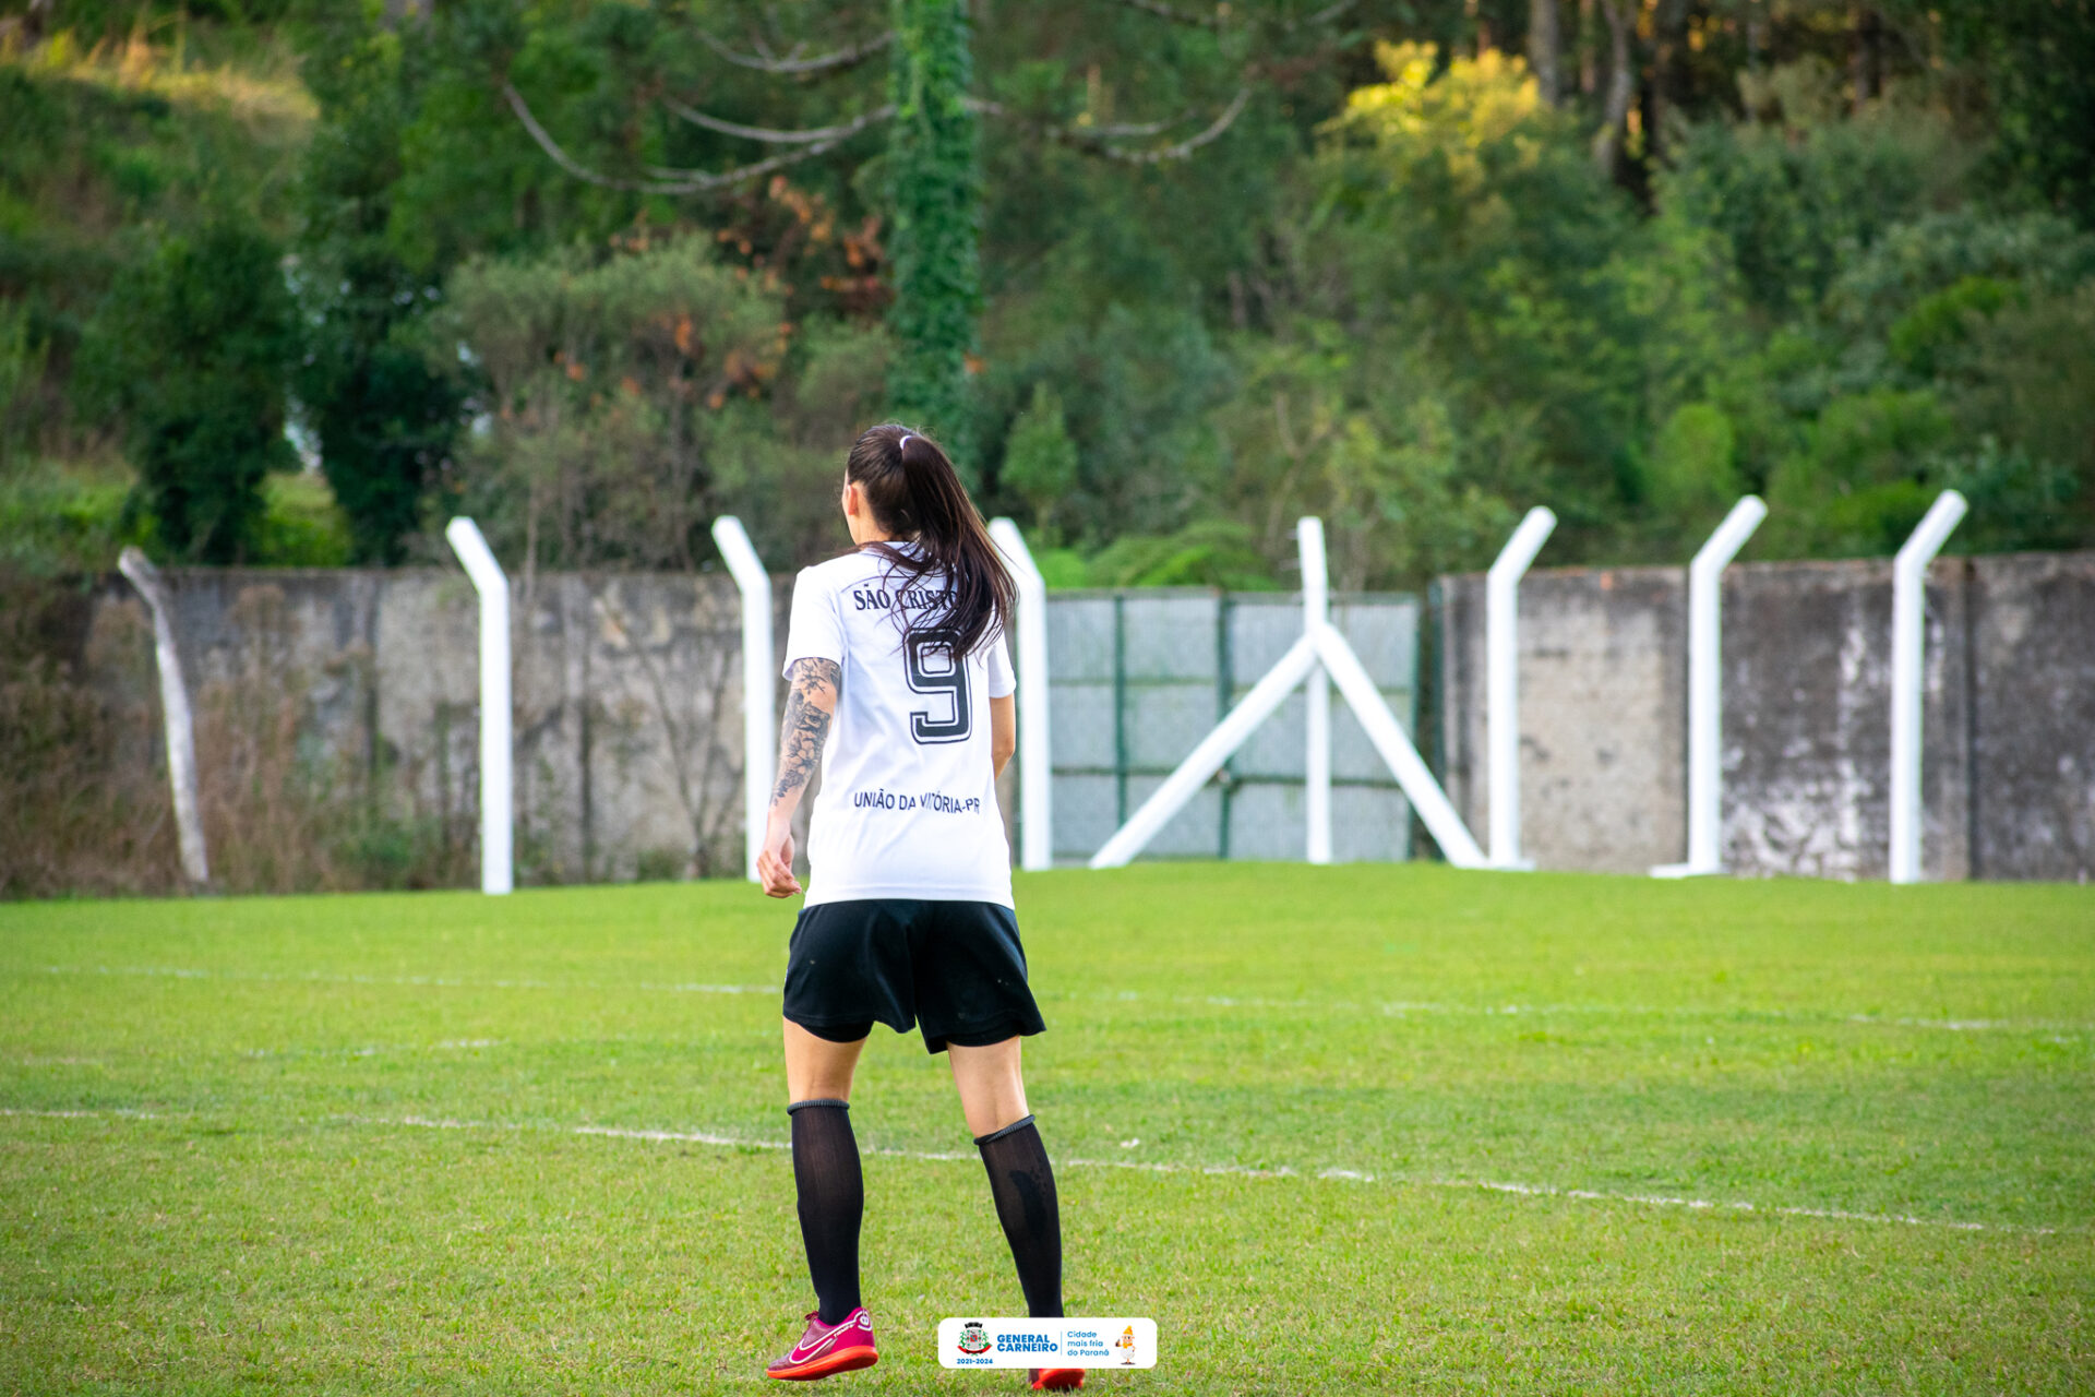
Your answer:
[[[980,478],[970,358],[980,314],[980,174],[964,0],[895,0],[886,189],[892,209],[895,415],[945,442],[964,480]]]

